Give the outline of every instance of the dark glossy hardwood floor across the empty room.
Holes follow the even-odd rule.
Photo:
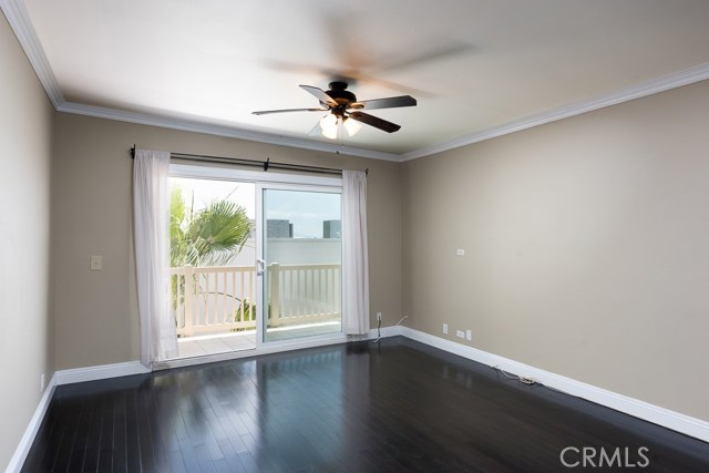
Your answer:
[[[709,444],[397,337],[59,387],[22,471],[706,473]]]

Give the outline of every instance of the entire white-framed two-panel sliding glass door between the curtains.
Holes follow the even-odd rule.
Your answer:
[[[171,165],[179,358],[342,333],[341,179]]]

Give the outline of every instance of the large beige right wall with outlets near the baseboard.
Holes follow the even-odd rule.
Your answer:
[[[709,420],[707,130],[702,82],[405,163],[411,323]]]

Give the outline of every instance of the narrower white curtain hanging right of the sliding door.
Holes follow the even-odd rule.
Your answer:
[[[342,171],[342,311],[345,332],[369,332],[369,259],[367,248],[367,175]]]

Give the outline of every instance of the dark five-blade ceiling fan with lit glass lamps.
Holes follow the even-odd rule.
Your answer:
[[[268,113],[285,112],[330,112],[320,120],[319,125],[325,136],[335,138],[337,137],[338,124],[343,124],[350,136],[357,133],[359,124],[352,121],[364,123],[366,125],[373,126],[387,133],[393,133],[401,128],[401,125],[361,112],[361,110],[394,109],[399,106],[414,106],[417,104],[417,100],[411,95],[358,101],[357,96],[347,90],[347,86],[348,83],[343,81],[330,82],[330,90],[328,91],[312,85],[300,85],[300,89],[315,95],[315,97],[320,101],[320,107],[263,110],[253,113],[254,115],[265,115]]]

